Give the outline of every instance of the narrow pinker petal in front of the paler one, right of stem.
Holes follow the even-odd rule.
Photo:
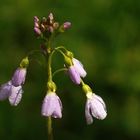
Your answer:
[[[68,68],[68,74],[69,74],[71,80],[72,80],[75,84],[77,84],[77,85],[80,84],[81,78],[80,78],[80,75],[79,75],[79,73],[77,72],[76,68],[74,67],[74,65],[72,65],[72,66],[70,66],[70,67]]]

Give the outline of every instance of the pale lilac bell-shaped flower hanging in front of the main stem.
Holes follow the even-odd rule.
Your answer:
[[[44,98],[41,114],[43,116],[52,116],[54,118],[62,117],[62,103],[60,98],[54,92],[48,92]]]

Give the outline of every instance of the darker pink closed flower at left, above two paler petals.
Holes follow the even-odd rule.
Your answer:
[[[25,77],[26,77],[26,68],[17,68],[11,80],[12,85],[17,87],[24,84]]]

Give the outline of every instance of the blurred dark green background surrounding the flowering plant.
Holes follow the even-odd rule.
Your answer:
[[[10,79],[20,60],[39,48],[33,16],[72,22],[57,38],[82,61],[93,87],[107,105],[105,120],[86,125],[85,95],[63,73],[56,75],[63,118],[54,119],[55,140],[140,139],[140,1],[139,0],[4,0],[0,4],[0,83]],[[36,56],[35,56],[36,57]],[[36,57],[37,58],[37,57]],[[60,58],[60,59],[59,59]],[[38,59],[42,59],[38,56]],[[63,67],[56,55],[53,68]],[[41,116],[45,70],[32,61],[24,96],[17,107],[0,102],[0,139],[47,140]]]

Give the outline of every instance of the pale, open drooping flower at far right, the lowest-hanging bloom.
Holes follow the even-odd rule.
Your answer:
[[[85,116],[87,124],[91,124],[93,122],[92,117],[100,120],[105,119],[107,116],[106,105],[100,96],[94,93],[87,93]]]

